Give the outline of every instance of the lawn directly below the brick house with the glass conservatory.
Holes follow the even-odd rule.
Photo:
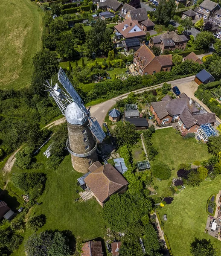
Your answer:
[[[177,166],[180,163],[193,163],[196,160],[202,161],[211,157],[207,152],[206,144],[197,143],[195,138],[183,139],[173,128],[156,130],[151,141],[159,152],[155,161],[161,161],[171,167],[171,181],[173,177],[177,177]],[[159,187],[158,195],[163,196],[163,190],[170,180],[159,181],[154,178],[154,184]]]

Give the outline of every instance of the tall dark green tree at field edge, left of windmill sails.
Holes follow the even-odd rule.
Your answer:
[[[32,92],[33,94],[45,95],[43,83],[58,72],[56,54],[49,50],[41,50],[33,57]]]

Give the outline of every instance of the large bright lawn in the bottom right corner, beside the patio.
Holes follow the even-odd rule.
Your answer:
[[[167,129],[166,129],[167,130]],[[195,154],[197,153],[194,150]],[[213,181],[204,181],[198,187],[187,186],[182,192],[174,196],[172,204],[163,207],[159,213],[162,218],[166,213],[168,220],[164,224],[164,233],[174,256],[190,256],[190,244],[195,237],[211,239],[214,248],[221,255],[221,242],[204,233],[208,214],[206,201],[213,193],[221,189],[221,175]]]

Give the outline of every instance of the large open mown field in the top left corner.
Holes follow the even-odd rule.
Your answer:
[[[42,47],[43,17],[30,0],[0,0],[0,89],[30,84],[32,57]]]

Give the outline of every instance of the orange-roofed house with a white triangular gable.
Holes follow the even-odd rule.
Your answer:
[[[122,38],[145,38],[146,33],[143,32],[142,27],[139,25],[137,20],[125,20],[122,23],[114,26],[115,29],[115,40],[119,41]]]

